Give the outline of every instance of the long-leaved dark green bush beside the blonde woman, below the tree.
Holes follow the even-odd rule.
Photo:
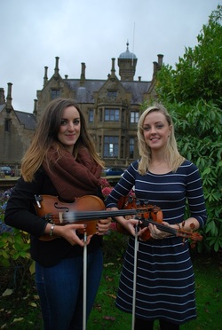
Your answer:
[[[208,220],[197,249],[218,252],[222,248],[222,110],[203,100],[196,105],[165,100],[164,106],[173,118],[179,152],[196,164],[202,177]]]

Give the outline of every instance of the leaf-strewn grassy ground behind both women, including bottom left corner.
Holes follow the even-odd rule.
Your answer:
[[[105,260],[99,292],[87,330],[131,329],[131,315],[115,308],[120,269],[121,263],[106,263]],[[222,327],[222,284],[218,259],[194,257],[194,272],[198,318],[181,326],[181,330],[219,330]],[[0,329],[42,329],[39,300],[34,284],[26,295],[21,289],[11,295],[3,295],[5,289],[12,288],[12,271],[1,268],[0,279]],[[156,323],[155,329],[158,328]]]

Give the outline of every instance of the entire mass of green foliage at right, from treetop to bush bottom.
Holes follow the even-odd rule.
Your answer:
[[[157,75],[159,101],[175,123],[178,149],[200,169],[208,221],[198,249],[222,248],[222,5],[203,25],[194,49]]]

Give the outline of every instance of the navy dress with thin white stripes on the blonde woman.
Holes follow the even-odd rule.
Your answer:
[[[139,161],[134,161],[109,195],[107,208],[115,207],[123,195],[135,185],[136,198],[160,207],[163,220],[179,224],[185,220],[186,199],[190,216],[202,227],[207,219],[202,181],[196,166],[184,161],[173,173],[139,175]],[[134,238],[126,250],[116,306],[132,311]],[[196,318],[194,270],[188,241],[179,237],[139,241],[137,267],[136,317],[147,320],[166,319],[183,324]]]

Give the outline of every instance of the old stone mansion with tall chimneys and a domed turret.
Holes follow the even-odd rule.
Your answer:
[[[115,75],[115,59],[105,80],[86,79],[85,64],[81,64],[79,79],[59,75],[59,58],[55,59],[54,74],[48,79],[44,67],[44,87],[37,90],[33,114],[22,113],[12,107],[12,83],[8,94],[0,89],[0,159],[2,164],[20,165],[23,153],[30,144],[44,107],[53,98],[74,98],[83,111],[88,128],[100,157],[107,167],[126,168],[139,157],[137,123],[141,104],[155,99],[155,77],[163,64],[163,55],[154,62],[151,81],[134,80],[136,55],[127,49],[118,58],[120,79]]]

